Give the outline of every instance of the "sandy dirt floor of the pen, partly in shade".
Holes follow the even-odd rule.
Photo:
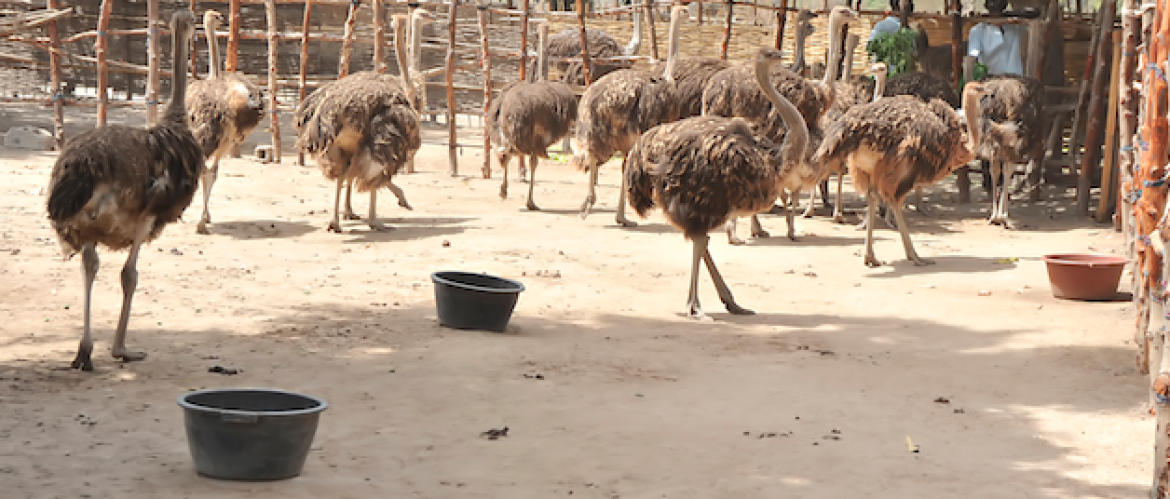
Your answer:
[[[6,108],[9,124],[19,112]],[[43,112],[33,110],[33,112]],[[44,115],[35,121],[42,121]],[[78,125],[83,127],[83,125]],[[289,130],[289,129],[285,129]],[[474,141],[474,130],[463,131]],[[428,130],[428,134],[441,134]],[[254,135],[254,141],[262,137]],[[285,141],[290,144],[291,138]],[[464,139],[466,141],[466,139]],[[247,149],[246,149],[247,150]],[[928,196],[896,232],[824,217],[711,253],[753,316],[682,316],[690,246],[660,214],[613,223],[618,164],[578,216],[585,176],[544,162],[541,212],[526,184],[498,197],[464,149],[459,177],[426,145],[380,196],[397,227],[324,231],[332,185],[314,165],[227,160],[213,194],[143,252],[130,344],[109,357],[124,253],[102,252],[96,370],[68,369],[82,324],[80,258],[62,261],[46,214],[54,153],[0,151],[0,484],[13,498],[1136,498],[1151,477],[1147,381],[1133,308],[1060,301],[1039,257],[1121,251],[1068,212],[1069,192],[1017,201],[1021,227],[986,226],[978,203]],[[515,179],[515,171],[512,172]],[[848,209],[861,207],[847,192]],[[367,198],[355,207],[365,213]],[[764,217],[783,234],[779,217]],[[741,224],[746,237],[746,226]],[[522,281],[503,334],[435,319],[429,275]],[[1122,290],[1128,290],[1128,276]],[[240,369],[234,376],[214,367]],[[537,377],[539,375],[539,377]],[[227,483],[193,471],[176,398],[276,387],[323,397],[304,473]],[[508,426],[505,438],[481,432]],[[908,444],[918,447],[911,452]]]

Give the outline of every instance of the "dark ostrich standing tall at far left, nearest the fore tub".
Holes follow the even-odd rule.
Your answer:
[[[122,315],[111,353],[124,362],[146,358],[126,349],[130,302],[138,285],[138,249],[178,220],[195,197],[204,172],[200,144],[191,134],[184,100],[187,89],[187,47],[195,30],[191,11],[171,18],[174,82],[163,121],[147,129],[108,125],[70,139],[49,179],[48,212],[69,259],[81,252],[85,275],[85,322],[73,361],[75,369],[94,370],[90,295],[97,275],[97,245],[130,248],[122,268]]]

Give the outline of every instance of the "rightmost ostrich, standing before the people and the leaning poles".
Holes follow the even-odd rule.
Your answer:
[[[1024,76],[989,76],[980,83],[987,89],[980,104],[978,128],[983,136],[977,156],[991,162],[991,216],[987,223],[1012,228],[1007,218],[1011,170],[1004,163],[1027,163],[1031,172],[1044,159],[1044,108],[1047,97],[1039,80]],[[1014,169],[1014,168],[1013,168]],[[1003,185],[999,177],[1003,173]],[[996,190],[999,189],[999,199]]]

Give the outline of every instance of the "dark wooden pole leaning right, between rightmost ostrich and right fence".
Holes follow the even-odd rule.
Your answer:
[[[1096,70],[1093,74],[1093,91],[1089,98],[1088,122],[1085,129],[1085,156],[1080,162],[1080,171],[1076,180],[1076,213],[1087,217],[1089,214],[1089,178],[1101,160],[1101,125],[1104,119],[1104,98],[1108,98],[1106,88],[1109,84],[1109,69],[1113,64],[1109,59],[1113,56],[1113,20],[1116,12],[1116,4],[1104,2],[1101,6],[1101,42],[1097,43]]]

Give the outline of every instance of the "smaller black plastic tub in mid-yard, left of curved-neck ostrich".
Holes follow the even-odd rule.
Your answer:
[[[439,323],[456,329],[504,330],[524,290],[511,279],[470,272],[435,272],[431,280]]]

